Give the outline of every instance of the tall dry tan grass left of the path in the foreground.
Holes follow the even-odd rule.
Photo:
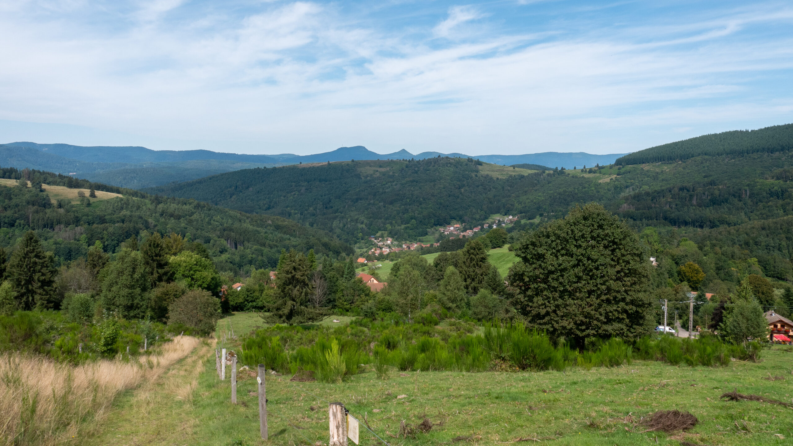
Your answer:
[[[177,336],[137,361],[76,367],[40,357],[0,356],[0,444],[71,443],[105,417],[117,394],[155,379],[199,343]]]

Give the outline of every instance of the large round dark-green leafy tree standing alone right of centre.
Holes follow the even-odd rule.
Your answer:
[[[508,283],[534,328],[559,338],[631,337],[651,321],[649,262],[636,234],[603,206],[577,207],[515,245]]]

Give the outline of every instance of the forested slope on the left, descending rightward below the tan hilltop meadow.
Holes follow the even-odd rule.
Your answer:
[[[0,248],[10,252],[29,229],[53,252],[56,266],[86,256],[99,241],[116,252],[125,240],[149,233],[176,233],[197,241],[219,271],[239,274],[247,267],[274,267],[282,248],[338,255],[351,248],[330,234],[282,217],[250,215],[182,198],[150,196],[136,190],[89,183],[42,171],[0,169]],[[9,180],[29,179],[27,186]],[[59,198],[56,187],[79,190],[73,199]],[[50,190],[48,190],[50,188]],[[112,199],[91,198],[90,190],[122,194]],[[84,196],[79,197],[82,191]]]

